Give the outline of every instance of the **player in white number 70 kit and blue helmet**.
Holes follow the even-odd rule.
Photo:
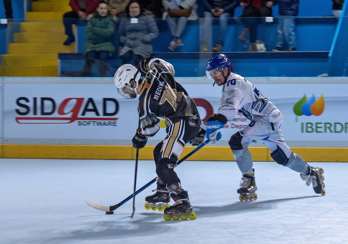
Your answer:
[[[242,113],[250,124],[232,135],[229,140],[232,153],[242,172],[239,193],[240,201],[256,200],[256,184],[253,160],[248,146],[257,141],[263,142],[271,150],[271,157],[278,164],[300,173],[307,185],[312,183],[315,193],[325,195],[324,170],[309,166],[298,154],[284,142],[280,125],[282,114],[256,87],[244,77],[232,73],[225,55],[219,54],[207,62],[207,76],[222,86],[222,97],[217,113],[209,117],[206,123],[206,137],[215,143],[221,138],[220,129],[227,121],[234,119],[237,112]],[[215,84],[214,83],[214,84]],[[203,129],[202,129],[203,130]],[[203,133],[192,140],[193,144],[203,141]]]

